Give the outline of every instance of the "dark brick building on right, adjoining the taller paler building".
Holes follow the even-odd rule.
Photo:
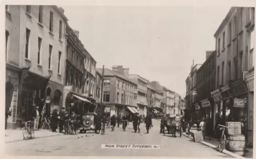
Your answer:
[[[200,106],[200,113],[197,114],[197,119],[203,117],[209,119],[214,115],[214,100],[211,97],[211,92],[215,87],[215,68],[216,68],[216,52],[206,51],[206,61],[197,70],[196,76],[196,103]],[[211,125],[214,127],[214,125]]]

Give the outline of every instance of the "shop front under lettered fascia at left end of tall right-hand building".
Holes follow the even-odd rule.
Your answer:
[[[220,89],[217,89],[213,92],[211,92],[212,98],[214,100],[213,105],[213,127],[215,130],[215,125],[218,117],[220,117],[220,107],[222,106],[222,96],[220,93]],[[217,116],[218,115],[218,116]]]

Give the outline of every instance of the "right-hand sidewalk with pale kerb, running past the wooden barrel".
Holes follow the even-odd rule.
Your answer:
[[[186,133],[182,133],[182,135],[184,135],[184,136],[186,136],[186,137],[190,137],[191,139],[193,139],[191,136],[186,135]],[[207,146],[209,146],[209,147],[212,147],[212,148],[215,148],[215,147],[217,147],[217,146],[219,145],[219,141],[217,141],[217,139],[211,138],[211,140],[209,140],[209,137],[205,137],[205,140],[202,141],[202,142],[200,142],[200,143],[202,143],[202,144],[204,144],[204,145],[207,145]],[[230,151],[227,151],[226,149],[224,149],[224,150],[222,151],[222,153],[225,153],[225,154],[227,154],[227,155],[230,155],[230,156],[232,156],[232,157],[234,157],[234,158],[253,158],[253,149],[252,149],[252,148],[246,148],[246,150],[247,150],[248,152],[245,153],[245,156],[237,155],[237,154],[235,154],[235,153],[232,153],[232,152],[230,152]]]

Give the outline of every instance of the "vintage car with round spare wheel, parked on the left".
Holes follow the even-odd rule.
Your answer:
[[[85,113],[82,116],[80,133],[86,133],[86,131],[94,131],[96,133],[96,121],[94,120],[96,115],[96,113]]]

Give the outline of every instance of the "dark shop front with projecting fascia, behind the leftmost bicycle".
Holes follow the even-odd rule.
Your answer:
[[[20,127],[23,120],[30,120],[33,106],[39,107],[42,112],[44,99],[46,99],[46,87],[50,77],[40,76],[29,71],[28,68],[22,69],[18,92],[18,107],[16,127]]]

